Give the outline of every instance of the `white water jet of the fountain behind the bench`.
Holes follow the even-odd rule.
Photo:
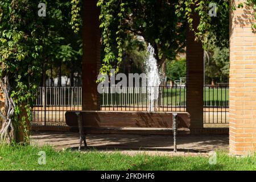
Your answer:
[[[159,85],[160,85],[160,76],[158,65],[155,59],[155,50],[148,44],[147,47],[147,57],[144,61],[145,71],[147,75],[147,93],[148,101],[150,101],[149,110],[155,111],[156,104],[159,96]]]

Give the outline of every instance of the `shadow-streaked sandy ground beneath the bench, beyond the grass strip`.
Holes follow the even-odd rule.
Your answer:
[[[77,133],[33,132],[31,139],[31,144],[49,144],[57,150],[77,150],[79,146]],[[89,150],[95,148],[102,152],[119,151],[129,155],[208,155],[209,151],[228,151],[229,147],[228,135],[180,135],[176,153],[173,152],[172,135],[89,134],[86,141]]]

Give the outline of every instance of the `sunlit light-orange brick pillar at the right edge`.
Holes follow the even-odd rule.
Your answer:
[[[242,1],[234,1],[238,4]],[[229,151],[256,151],[256,34],[253,11],[230,10]]]

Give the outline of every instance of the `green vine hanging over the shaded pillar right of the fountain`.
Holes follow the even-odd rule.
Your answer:
[[[212,3],[216,5],[217,16],[210,16],[209,11],[213,7],[210,6]],[[180,16],[181,12],[184,12],[185,18],[187,19],[190,30],[195,32],[196,40],[201,42],[207,42],[209,32],[215,31],[218,34],[218,41],[228,42],[229,36],[229,2],[228,1],[208,1],[208,0],[187,0],[179,1],[176,5],[176,14]],[[194,18],[195,14],[199,16],[199,24],[195,26]],[[225,38],[224,38],[225,36]]]

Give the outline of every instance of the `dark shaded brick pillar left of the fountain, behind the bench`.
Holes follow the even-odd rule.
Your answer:
[[[97,75],[100,68],[100,9],[96,0],[83,1],[82,110],[100,110]]]

